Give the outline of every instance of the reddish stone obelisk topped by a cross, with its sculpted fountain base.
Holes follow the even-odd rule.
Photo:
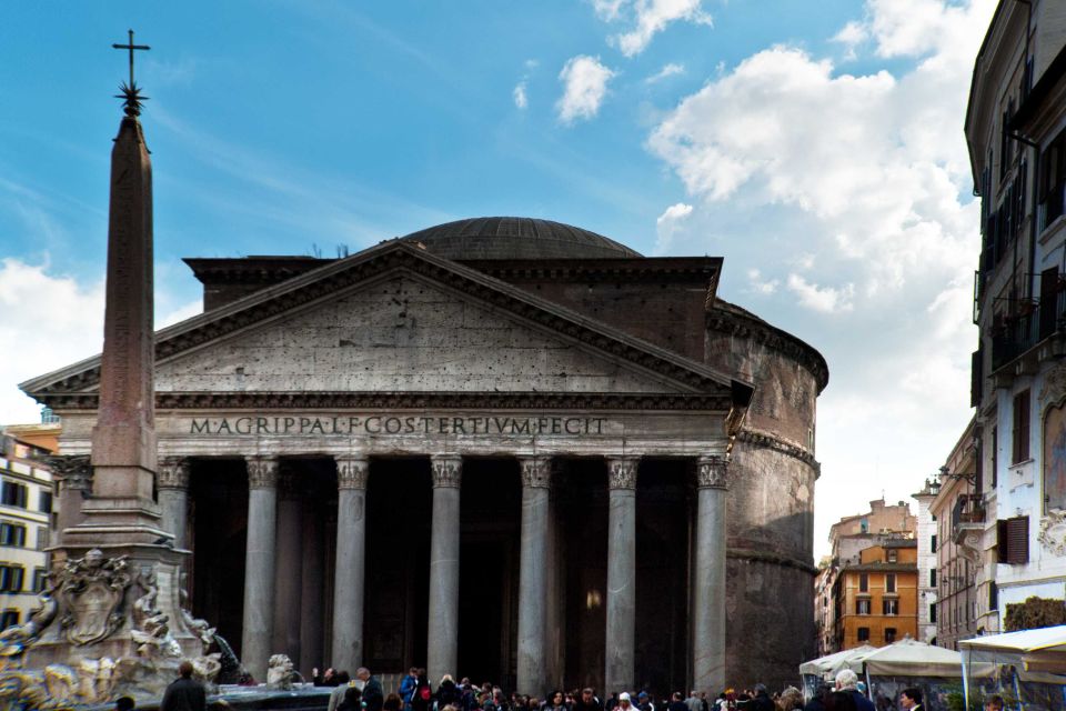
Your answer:
[[[52,549],[57,608],[27,650],[29,667],[77,659],[131,659],[157,677],[200,657],[207,623],[182,610],[188,551],[160,528],[155,479],[152,318],[152,167],[138,119],[140,90],[123,84],[125,116],[111,150],[108,276],[92,492]],[[68,519],[69,520],[69,519]]]

